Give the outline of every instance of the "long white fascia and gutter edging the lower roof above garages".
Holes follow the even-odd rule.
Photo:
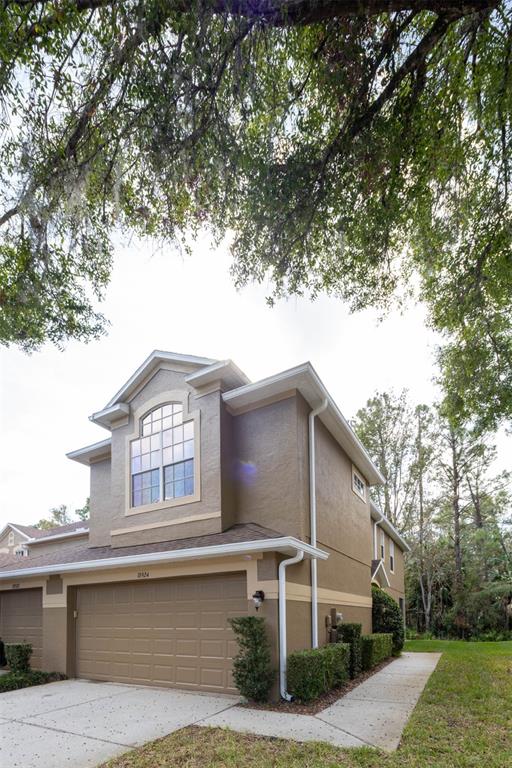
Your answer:
[[[55,565],[40,565],[32,568],[23,568],[15,571],[0,571],[0,580],[22,578],[27,576],[39,576],[51,573],[76,573],[78,571],[96,571],[109,568],[127,568],[132,565],[156,565],[180,560],[202,560],[209,557],[222,557],[226,555],[242,555],[255,552],[291,552],[302,551],[308,558],[315,557],[318,560],[327,560],[327,552],[317,547],[312,547],[293,536],[277,539],[260,539],[257,541],[245,541],[236,544],[215,544],[209,547],[191,547],[190,549],[173,550],[167,552],[154,552],[143,555],[127,555],[125,557],[109,557],[104,560],[84,560],[76,563],[57,563]]]

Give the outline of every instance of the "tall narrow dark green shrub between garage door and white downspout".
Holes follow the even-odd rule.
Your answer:
[[[230,619],[229,623],[240,649],[233,661],[235,685],[247,699],[267,701],[274,671],[265,619],[262,616],[239,616]]]

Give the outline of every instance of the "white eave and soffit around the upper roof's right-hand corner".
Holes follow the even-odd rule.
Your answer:
[[[318,407],[327,399],[327,408],[318,418],[341,445],[354,465],[366,477],[370,485],[383,485],[384,478],[372,462],[363,444],[349,425],[340,409],[328,393],[311,363],[304,363],[275,376],[246,384],[238,389],[225,392],[222,398],[233,413],[262,400],[298,390],[311,408]]]

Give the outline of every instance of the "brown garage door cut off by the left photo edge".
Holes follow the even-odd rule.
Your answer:
[[[43,590],[0,592],[0,637],[4,643],[31,643],[31,666],[41,668],[43,655]]]

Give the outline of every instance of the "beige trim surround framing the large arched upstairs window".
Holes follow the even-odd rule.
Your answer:
[[[132,507],[132,473],[131,473],[131,455],[130,446],[133,440],[140,437],[140,420],[147,416],[155,408],[169,403],[181,403],[183,406],[183,421],[192,421],[194,424],[194,493],[190,496],[181,496],[177,499],[164,499],[151,504],[143,504],[139,507]],[[189,410],[188,392],[183,390],[170,390],[161,392],[159,395],[147,400],[140,408],[133,413],[133,431],[127,435],[125,443],[125,517],[132,515],[141,515],[146,512],[156,510],[172,509],[173,507],[183,507],[187,504],[194,504],[201,501],[201,430],[200,430],[200,412],[199,410]],[[161,481],[162,482],[162,479]]]

